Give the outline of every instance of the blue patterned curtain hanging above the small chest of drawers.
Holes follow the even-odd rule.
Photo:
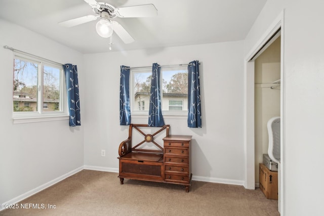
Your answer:
[[[199,62],[188,65],[188,127],[201,127]]]

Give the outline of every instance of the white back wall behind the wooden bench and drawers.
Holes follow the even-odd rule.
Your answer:
[[[186,118],[165,117],[171,134],[192,135],[193,179],[244,184],[243,42],[85,55],[85,165],[118,171],[118,146],[128,137],[119,126],[120,65],[131,67],[199,60],[202,128]],[[132,118],[147,123],[145,118]],[[101,149],[106,157],[101,157]],[[117,180],[116,180],[117,181]]]

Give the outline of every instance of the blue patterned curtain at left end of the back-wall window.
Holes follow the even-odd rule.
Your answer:
[[[119,89],[119,121],[120,125],[131,123],[130,106],[130,69],[127,66],[120,66],[120,89]]]

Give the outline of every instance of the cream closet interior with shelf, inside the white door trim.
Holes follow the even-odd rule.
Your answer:
[[[275,162],[275,158],[271,159],[273,154],[269,153],[269,150],[272,148],[273,141],[277,141],[276,144],[280,145],[280,137],[273,140],[273,131],[271,127],[269,128],[269,124],[274,117],[278,118],[278,122],[280,122],[280,39],[280,31],[278,31],[265,46],[265,49],[262,49],[262,52],[259,52],[253,59],[255,186],[260,188],[264,187],[262,184],[260,185],[259,181],[260,163],[265,164],[273,174],[276,174],[279,165]],[[277,135],[280,136],[280,123],[276,129],[279,131]],[[273,183],[277,185],[278,179],[275,179]]]

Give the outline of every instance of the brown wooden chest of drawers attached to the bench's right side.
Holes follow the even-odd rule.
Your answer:
[[[191,184],[190,142],[191,136],[170,135],[164,141],[165,181],[186,186]]]

